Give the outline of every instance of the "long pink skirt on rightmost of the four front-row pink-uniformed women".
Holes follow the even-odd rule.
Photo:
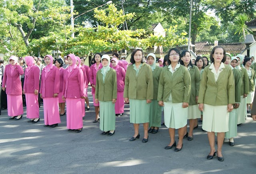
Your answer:
[[[66,98],[67,128],[80,129],[83,127],[81,98]]]

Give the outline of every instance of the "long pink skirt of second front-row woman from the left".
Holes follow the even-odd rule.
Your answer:
[[[26,93],[27,118],[39,118],[38,95]]]

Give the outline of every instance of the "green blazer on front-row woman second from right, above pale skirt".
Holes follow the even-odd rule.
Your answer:
[[[189,103],[190,88],[191,79],[186,67],[180,65],[180,68],[177,68],[172,74],[167,66],[163,68],[160,74],[157,100],[168,102],[168,98],[172,93],[173,103]]]

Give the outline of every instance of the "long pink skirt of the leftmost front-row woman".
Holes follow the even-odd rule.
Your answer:
[[[7,111],[8,116],[19,116],[23,112],[22,95],[8,95],[7,94]]]

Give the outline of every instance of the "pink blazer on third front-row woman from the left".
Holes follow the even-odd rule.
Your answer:
[[[56,66],[52,66],[45,77],[46,67],[42,70],[40,94],[43,98],[53,98],[53,94],[60,92],[60,71]]]

